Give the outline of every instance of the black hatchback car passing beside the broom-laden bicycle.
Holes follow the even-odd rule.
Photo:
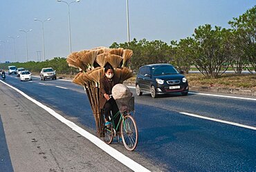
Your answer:
[[[153,98],[163,93],[188,95],[188,80],[171,64],[145,65],[136,77],[136,94],[143,93],[150,93]]]

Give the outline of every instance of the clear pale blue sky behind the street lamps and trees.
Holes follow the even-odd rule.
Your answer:
[[[64,0],[70,3],[74,0]],[[192,36],[205,25],[230,28],[228,21],[256,5],[256,0],[129,0],[130,39],[172,40]],[[72,52],[127,41],[127,0],[80,0],[71,3]],[[1,0],[0,63],[43,61],[70,53],[68,6],[57,0]],[[26,48],[27,32],[28,47]],[[19,36],[19,37],[18,37]],[[15,39],[12,39],[13,37]],[[28,49],[28,57],[26,50]]]

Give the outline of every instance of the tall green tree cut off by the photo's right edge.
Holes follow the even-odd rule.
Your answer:
[[[235,32],[237,57],[245,58],[256,71],[256,6],[228,22]],[[248,70],[252,73],[253,70]]]

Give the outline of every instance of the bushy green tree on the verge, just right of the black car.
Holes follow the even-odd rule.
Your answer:
[[[210,24],[194,30],[193,61],[196,68],[206,77],[217,78],[225,73],[230,64],[230,30]]]

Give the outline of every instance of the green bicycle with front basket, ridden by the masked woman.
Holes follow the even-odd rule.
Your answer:
[[[131,113],[134,113],[134,97],[128,97],[123,99],[116,99],[119,111],[111,117],[111,126],[104,126],[103,141],[107,144],[111,144],[113,138],[121,135],[122,143],[129,151],[134,151],[138,144],[138,128],[134,117]],[[119,119],[118,119],[119,115]],[[115,120],[118,120],[118,124],[115,125]],[[119,134],[118,132],[119,131]]]

